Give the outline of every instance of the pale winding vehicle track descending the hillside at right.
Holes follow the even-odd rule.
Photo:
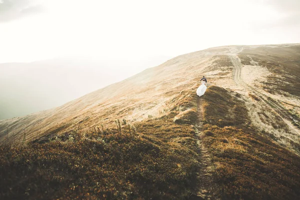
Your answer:
[[[240,52],[241,50],[239,50],[238,52]],[[240,62],[238,56],[236,55],[236,53],[229,54],[228,56],[233,65],[232,78],[237,85],[240,85],[244,89],[255,93],[262,101],[267,103],[273,111],[278,113],[281,118],[284,117],[285,119],[291,120],[294,123],[297,123],[298,125],[300,125],[299,119],[293,118],[293,116],[282,105],[280,105],[279,102],[276,102],[274,99],[272,99],[270,97],[266,97],[265,94],[258,91],[253,86],[246,84],[241,77],[241,69],[242,69],[243,65]]]

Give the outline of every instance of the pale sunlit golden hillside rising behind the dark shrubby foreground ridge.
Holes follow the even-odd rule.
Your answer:
[[[260,100],[275,107],[275,112],[288,110],[283,112],[284,123],[289,127],[280,130],[274,128],[272,135],[279,137],[283,131],[292,132],[291,140],[298,141],[297,131],[290,128],[291,123],[297,122],[290,120],[290,117],[300,121],[297,116],[300,114],[299,46],[220,46],[179,55],[59,107],[0,120],[0,142],[6,142],[7,126],[9,142],[14,138],[22,139],[24,132],[27,132],[27,140],[32,141],[49,133],[73,131],[77,126],[84,130],[101,123],[105,127],[113,127],[115,118],[126,118],[133,123],[145,120],[149,115],[161,117],[168,109],[165,107],[167,101],[175,98],[180,91],[198,85],[202,75],[207,76],[210,84],[230,88],[242,95],[251,93],[258,98],[265,95],[264,100]],[[266,110],[270,110],[270,107],[266,107]],[[266,121],[265,116],[256,114],[255,117],[262,118],[257,125]]]

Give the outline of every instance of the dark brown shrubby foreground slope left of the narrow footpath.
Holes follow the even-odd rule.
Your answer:
[[[120,131],[95,128],[2,146],[0,199],[187,198],[199,171],[195,132],[185,124],[196,120],[189,93],[171,99],[163,117],[134,124],[135,130],[127,124]]]

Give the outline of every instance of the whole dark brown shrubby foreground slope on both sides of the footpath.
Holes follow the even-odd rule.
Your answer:
[[[184,199],[201,170],[194,88],[160,118],[118,129],[48,135],[0,149],[0,197]],[[300,159],[249,123],[240,94],[211,86],[203,97],[203,142],[222,199],[297,199]],[[175,123],[174,123],[175,122]]]

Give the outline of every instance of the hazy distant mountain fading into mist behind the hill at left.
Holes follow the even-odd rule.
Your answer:
[[[55,58],[0,64],[0,119],[59,106],[69,100],[167,60],[103,60]]]

